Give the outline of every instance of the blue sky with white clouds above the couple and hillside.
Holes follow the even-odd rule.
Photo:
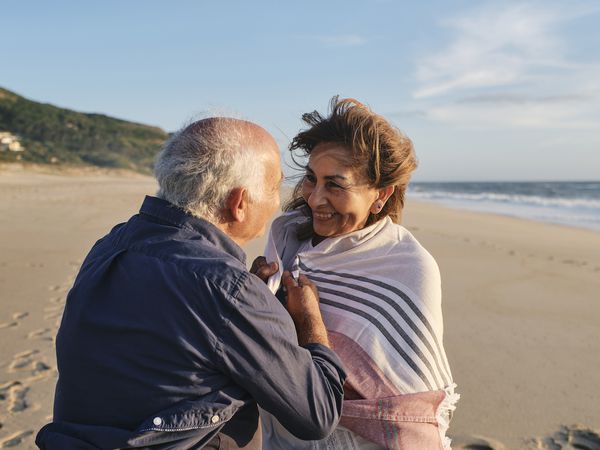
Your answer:
[[[416,181],[600,179],[598,1],[4,1],[0,86],[172,131],[354,97]]]

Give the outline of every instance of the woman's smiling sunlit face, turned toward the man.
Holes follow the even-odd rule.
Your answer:
[[[302,181],[302,196],[313,216],[315,234],[339,236],[364,228],[378,191],[350,163],[350,152],[338,144],[317,145]]]

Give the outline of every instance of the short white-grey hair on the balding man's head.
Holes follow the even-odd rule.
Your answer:
[[[253,150],[249,122],[213,117],[174,133],[154,166],[157,196],[196,217],[218,221],[232,189],[263,196],[263,158]]]

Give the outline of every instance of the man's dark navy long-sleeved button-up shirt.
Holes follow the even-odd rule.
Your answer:
[[[158,198],[94,245],[56,350],[41,448],[200,448],[217,433],[260,445],[257,402],[303,439],[340,417],[335,353],[299,346],[240,247]]]

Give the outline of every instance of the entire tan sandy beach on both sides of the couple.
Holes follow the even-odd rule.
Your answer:
[[[0,448],[35,448],[79,265],[155,190],[123,172],[0,166]],[[600,448],[600,233],[411,202],[404,223],[442,272],[453,448]]]

